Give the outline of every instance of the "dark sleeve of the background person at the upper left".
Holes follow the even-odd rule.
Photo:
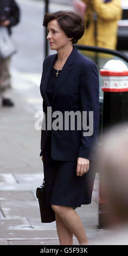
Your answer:
[[[11,13],[9,17],[10,21],[10,27],[17,25],[17,23],[20,21],[20,9],[16,2],[13,0],[11,3]]]

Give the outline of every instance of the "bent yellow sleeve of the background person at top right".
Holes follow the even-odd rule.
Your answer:
[[[92,0],[92,8],[98,17],[104,20],[120,20],[121,19],[121,1],[112,0],[111,2],[103,2],[103,0]]]

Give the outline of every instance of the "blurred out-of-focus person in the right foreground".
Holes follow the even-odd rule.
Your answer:
[[[97,168],[101,192],[106,199],[106,235],[98,245],[128,245],[128,123],[114,125],[104,133]]]

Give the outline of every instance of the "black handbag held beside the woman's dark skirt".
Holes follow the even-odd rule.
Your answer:
[[[46,192],[44,186],[44,179],[43,184],[40,187],[36,188],[36,197],[39,200],[41,222],[49,223],[55,221],[55,212],[53,211],[52,206],[46,206]]]

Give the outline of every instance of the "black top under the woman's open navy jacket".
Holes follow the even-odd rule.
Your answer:
[[[60,75],[60,72],[61,70],[58,70],[59,75]],[[46,93],[51,106],[52,106],[54,86],[57,81],[57,77],[59,77],[59,75],[56,76],[56,73],[57,73],[57,70],[53,68],[48,80],[47,88],[46,88]]]

